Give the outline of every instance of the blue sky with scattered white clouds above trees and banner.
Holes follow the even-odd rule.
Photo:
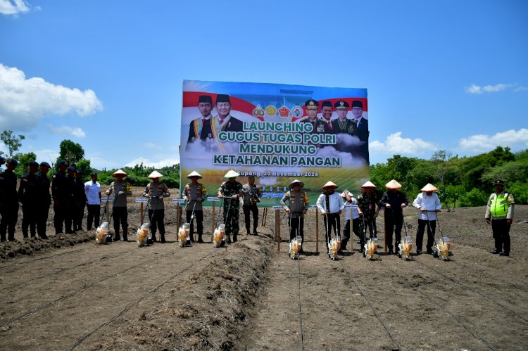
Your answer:
[[[0,0],[0,130],[180,162],[184,79],[366,88],[370,160],[528,148],[528,1]],[[0,143],[0,150],[6,151]]]

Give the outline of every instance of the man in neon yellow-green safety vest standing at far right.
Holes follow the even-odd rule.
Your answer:
[[[513,208],[515,201],[513,195],[504,191],[504,182],[496,180],[495,193],[489,196],[486,206],[486,222],[491,222],[491,230],[495,239],[494,255],[510,255],[510,226],[513,221]]]

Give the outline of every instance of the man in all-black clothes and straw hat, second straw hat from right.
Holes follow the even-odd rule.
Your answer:
[[[385,241],[389,255],[392,255],[392,231],[394,230],[394,254],[398,255],[401,241],[401,227],[403,226],[403,208],[409,205],[404,193],[398,191],[401,189],[401,184],[395,179],[385,184],[385,191],[382,196],[382,207],[385,208]]]

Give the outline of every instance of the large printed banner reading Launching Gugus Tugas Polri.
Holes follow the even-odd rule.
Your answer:
[[[368,179],[367,89],[185,80],[181,130],[182,188],[196,171],[209,196],[228,170],[254,175],[266,207],[294,179],[310,204],[327,181],[356,194]]]

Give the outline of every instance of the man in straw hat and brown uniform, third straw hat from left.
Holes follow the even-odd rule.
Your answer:
[[[194,220],[196,218],[196,226],[198,229],[198,242],[203,243],[201,238],[203,234],[203,200],[207,198],[206,187],[198,182],[198,179],[201,179],[199,172],[192,171],[191,174],[187,176],[191,179],[191,182],[185,185],[183,189],[183,198],[187,202],[187,211],[185,216],[187,218],[187,223],[191,224],[191,241],[194,241]]]

